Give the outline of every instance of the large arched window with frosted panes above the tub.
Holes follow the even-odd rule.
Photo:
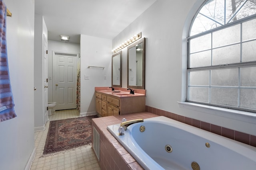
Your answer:
[[[187,101],[256,112],[256,0],[208,0],[188,37]]]

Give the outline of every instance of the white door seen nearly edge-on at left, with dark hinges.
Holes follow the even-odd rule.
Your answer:
[[[47,67],[47,39],[44,35],[44,124],[48,121],[48,67]]]

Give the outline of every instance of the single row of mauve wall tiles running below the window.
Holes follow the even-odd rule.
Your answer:
[[[250,134],[247,134],[247,133],[242,133],[242,132],[235,131],[235,130],[232,130],[232,129],[228,129],[228,128],[225,128],[225,127],[213,125],[213,124],[210,124],[210,123],[207,123],[207,122],[204,122],[204,121],[199,121],[199,120],[192,119],[192,118],[189,118],[189,117],[177,115],[175,113],[170,113],[168,111],[164,111],[164,110],[157,109],[157,108],[150,107],[150,106],[146,106],[146,111],[148,111],[150,113],[154,113],[156,115],[166,116],[166,117],[169,117],[171,119],[180,121],[182,123],[186,123],[188,125],[192,125],[194,127],[204,129],[206,131],[215,133],[217,135],[221,135],[221,136],[227,137],[229,139],[233,139],[235,141],[239,141],[239,142],[245,143],[247,145],[251,145],[253,147],[256,147],[256,136],[254,136],[254,135],[250,135]]]

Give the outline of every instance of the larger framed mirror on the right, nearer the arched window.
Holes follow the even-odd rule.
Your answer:
[[[145,38],[127,47],[127,88],[145,89]]]

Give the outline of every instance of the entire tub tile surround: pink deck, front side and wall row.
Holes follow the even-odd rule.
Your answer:
[[[254,135],[234,131],[225,127],[220,127],[196,119],[191,119],[189,117],[180,116],[175,113],[170,113],[161,109],[156,109],[154,107],[146,106],[146,112],[142,113],[128,113],[125,115],[92,119],[92,128],[95,127],[98,133],[100,133],[100,168],[102,170],[143,170],[140,164],[134,160],[134,158],[126,151],[126,149],[124,149],[124,147],[122,147],[122,145],[110,134],[106,128],[108,125],[121,123],[122,118],[126,118],[127,120],[141,118],[147,119],[160,115],[256,147],[256,136]]]

